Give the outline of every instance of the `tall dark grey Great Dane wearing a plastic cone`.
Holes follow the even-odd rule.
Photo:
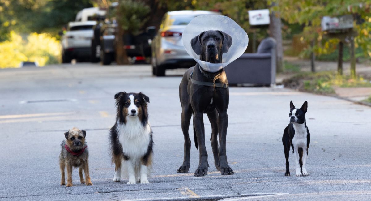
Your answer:
[[[192,49],[197,55],[200,55],[200,60],[210,63],[221,63],[223,53],[227,53],[231,45],[232,38],[219,30],[202,32],[191,40]],[[203,121],[203,114],[206,113],[211,123],[210,141],[215,166],[222,175],[233,174],[226,155],[229,89],[224,69],[211,73],[203,70],[197,63],[196,66],[189,68],[184,73],[179,86],[179,95],[182,106],[184,161],[183,165],[178,168],[178,172],[188,172],[190,167],[191,141],[188,129],[193,114],[194,141],[196,148],[199,148],[200,151],[200,162],[194,176],[207,175],[209,164],[207,162]]]

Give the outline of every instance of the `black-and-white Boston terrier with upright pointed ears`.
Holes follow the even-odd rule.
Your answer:
[[[285,176],[290,175],[289,168],[289,151],[292,147],[292,154],[295,159],[296,177],[308,176],[306,171],[306,157],[308,156],[309,148],[309,129],[305,122],[305,113],[308,108],[308,102],[304,102],[301,108],[295,108],[292,101],[290,102],[290,123],[283,131],[282,143],[285,148],[286,158],[286,173]],[[304,154],[303,154],[304,153]]]

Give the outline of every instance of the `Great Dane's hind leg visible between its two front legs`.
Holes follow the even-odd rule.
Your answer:
[[[207,117],[209,117],[209,121],[211,123],[211,148],[213,148],[214,154],[214,164],[217,170],[219,168],[219,147],[218,147],[218,111],[215,109],[214,111],[207,113]]]

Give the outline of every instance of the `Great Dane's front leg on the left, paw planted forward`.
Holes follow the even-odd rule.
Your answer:
[[[204,135],[204,119],[203,112],[194,112],[193,114],[193,125],[196,129],[196,136],[198,142],[198,150],[200,151],[200,162],[198,168],[194,173],[195,177],[207,175],[209,164],[207,162],[207,151],[205,146],[205,135]]]

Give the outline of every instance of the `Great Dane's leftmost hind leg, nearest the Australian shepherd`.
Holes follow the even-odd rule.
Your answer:
[[[183,164],[178,168],[178,173],[188,172],[189,170],[189,159],[190,159],[190,151],[191,151],[191,140],[189,139],[189,124],[191,122],[192,117],[192,108],[189,104],[188,106],[184,106],[182,110],[182,131],[184,135],[184,159]]]

